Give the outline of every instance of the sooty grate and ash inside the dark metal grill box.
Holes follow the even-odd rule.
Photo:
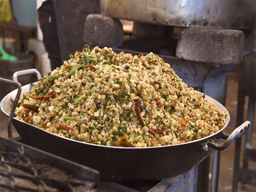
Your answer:
[[[74,179],[46,163],[1,150],[0,191],[96,191],[95,183]]]

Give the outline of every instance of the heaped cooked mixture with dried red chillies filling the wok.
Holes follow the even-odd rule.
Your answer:
[[[22,95],[15,118],[97,145],[174,145],[226,123],[228,112],[204,97],[152,52],[133,56],[86,45]]]

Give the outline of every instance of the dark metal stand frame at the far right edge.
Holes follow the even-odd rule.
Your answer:
[[[255,58],[255,53],[252,55],[248,55],[248,57]],[[246,57],[245,57],[246,59]],[[251,121],[251,126],[247,133],[245,134],[245,144],[244,144],[244,156],[243,156],[243,169],[239,168],[240,162],[240,151],[241,151],[241,139],[236,140],[235,145],[235,159],[234,159],[234,175],[233,175],[233,191],[237,191],[238,181],[243,183],[249,183],[255,185],[255,179],[252,179],[250,182],[246,179],[246,176],[251,173],[251,170],[248,170],[248,159],[255,160],[255,148],[251,146],[252,140],[252,127],[254,124],[255,117],[255,92],[256,92],[256,79],[255,79],[255,59],[251,60],[249,58],[249,65],[241,64],[240,65],[240,77],[239,77],[239,87],[238,87],[238,104],[237,104],[237,121],[236,124],[239,125],[243,122],[244,119],[244,99],[245,95],[249,95],[249,103],[248,103],[248,111],[247,111],[247,119]],[[249,73],[243,74],[242,72],[246,71],[246,68],[249,68]],[[249,79],[246,81],[246,79]],[[248,82],[246,84],[246,82]],[[248,152],[248,149],[249,152]],[[255,173],[254,173],[255,174]],[[253,173],[252,173],[253,175]]]

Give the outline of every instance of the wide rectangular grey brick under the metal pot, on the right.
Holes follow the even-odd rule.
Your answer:
[[[238,64],[243,52],[244,32],[232,29],[184,29],[176,48],[180,59],[218,64]]]

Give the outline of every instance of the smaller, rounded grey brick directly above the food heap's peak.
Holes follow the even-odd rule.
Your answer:
[[[89,14],[84,24],[85,44],[100,47],[119,47],[124,41],[121,22],[101,14]]]

